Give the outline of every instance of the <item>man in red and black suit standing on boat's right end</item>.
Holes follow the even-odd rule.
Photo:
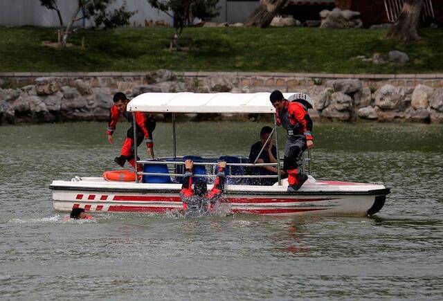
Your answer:
[[[314,102],[303,93],[295,93],[289,101],[278,90],[271,93],[269,100],[275,107],[277,125],[287,130],[283,170],[288,174],[288,192],[296,192],[308,178],[299,167],[303,151],[314,147],[312,120],[307,111]]]

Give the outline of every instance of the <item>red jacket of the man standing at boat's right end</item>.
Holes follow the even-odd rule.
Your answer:
[[[286,116],[287,115],[287,116]],[[306,140],[313,140],[312,136],[312,120],[307,112],[307,109],[300,102],[284,102],[284,109],[282,111],[276,111],[275,116],[277,118],[277,125],[284,125],[282,118],[289,119],[292,127],[298,129],[298,134],[304,135]]]

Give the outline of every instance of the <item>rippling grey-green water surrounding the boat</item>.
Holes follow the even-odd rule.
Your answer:
[[[247,156],[262,125],[179,124],[178,154]],[[114,146],[105,127],[0,127],[0,299],[442,299],[442,125],[316,125],[316,178],[392,187],[372,218],[63,221],[48,185],[115,168],[127,125]],[[159,124],[157,156],[171,138]]]

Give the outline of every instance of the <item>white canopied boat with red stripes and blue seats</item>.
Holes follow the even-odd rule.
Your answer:
[[[290,98],[293,93],[284,93]],[[172,113],[174,138],[173,156],[143,163],[143,181],[107,181],[103,177],[75,176],[71,181],[53,181],[55,210],[84,208],[91,212],[165,212],[183,208],[179,192],[183,177],[183,162],[189,156],[177,156],[175,114],[177,113],[274,113],[269,93],[145,93],[127,106],[127,111]],[[274,118],[275,121],[275,118]],[[135,127],[134,127],[135,128]],[[276,125],[273,132],[278,140]],[[272,136],[272,135],[271,135]],[[270,136],[270,137],[271,137]],[[278,150],[278,144],[274,143]],[[278,153],[278,152],[277,152]],[[223,154],[225,155],[225,154]],[[222,198],[233,213],[256,215],[339,215],[365,216],[379,212],[390,189],[380,183],[352,183],[309,179],[298,192],[287,192],[287,179],[280,176],[253,176],[249,168],[278,163],[254,164],[244,158],[223,156],[228,162],[226,185]],[[214,178],[217,158],[193,157],[198,172],[195,176]],[[310,174],[310,158],[306,158]],[[273,185],[251,185],[254,178],[273,178]],[[135,177],[136,178],[136,177]]]

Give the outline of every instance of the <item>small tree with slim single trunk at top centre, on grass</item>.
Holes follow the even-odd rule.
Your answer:
[[[152,7],[157,8],[174,19],[174,37],[171,48],[178,48],[179,36],[183,28],[192,24],[195,18],[209,19],[216,17],[218,0],[147,0]]]

